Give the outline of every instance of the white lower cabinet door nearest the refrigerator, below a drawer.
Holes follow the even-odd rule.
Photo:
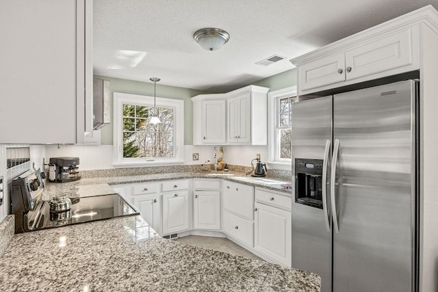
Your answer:
[[[255,203],[255,249],[287,267],[292,265],[292,213]]]

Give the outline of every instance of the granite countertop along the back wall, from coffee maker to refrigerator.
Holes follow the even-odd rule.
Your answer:
[[[235,181],[255,187],[264,187],[274,191],[280,191],[285,196],[292,196],[291,189],[285,189],[281,185],[290,183],[279,181],[275,178],[253,178],[244,172],[172,172],[163,174],[144,174],[134,176],[103,176],[93,178],[81,178],[79,181],[70,183],[46,183],[44,188],[44,200],[53,196],[83,197],[114,194],[110,185],[128,183],[144,183],[148,181],[167,181],[183,178],[222,178],[227,181]]]

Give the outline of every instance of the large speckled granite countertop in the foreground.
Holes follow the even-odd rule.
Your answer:
[[[298,269],[154,235],[140,215],[14,235],[2,291],[320,291]]]

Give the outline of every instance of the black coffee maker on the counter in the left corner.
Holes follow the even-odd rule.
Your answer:
[[[52,157],[49,160],[49,181],[67,183],[80,178],[79,157]]]

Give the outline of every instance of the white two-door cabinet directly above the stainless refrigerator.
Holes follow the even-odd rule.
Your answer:
[[[298,95],[418,70],[419,51],[419,25],[392,21],[372,27],[292,59]]]

